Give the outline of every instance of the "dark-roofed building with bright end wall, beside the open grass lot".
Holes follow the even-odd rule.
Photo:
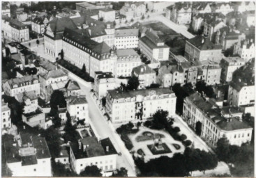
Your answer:
[[[139,40],[140,51],[152,62],[168,60],[170,48],[160,40],[156,31],[149,29],[146,35]]]

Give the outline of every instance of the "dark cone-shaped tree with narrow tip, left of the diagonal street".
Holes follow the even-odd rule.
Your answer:
[[[66,121],[66,125],[64,127],[65,133],[63,134],[63,138],[66,142],[68,142],[68,141],[73,142],[74,140],[79,139],[80,135],[76,131],[76,127],[72,125],[71,117],[68,112],[67,112],[66,116],[67,116],[67,121]]]

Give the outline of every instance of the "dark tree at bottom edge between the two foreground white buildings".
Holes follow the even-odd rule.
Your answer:
[[[66,169],[63,163],[52,161],[52,174],[54,177],[77,177],[73,170]]]

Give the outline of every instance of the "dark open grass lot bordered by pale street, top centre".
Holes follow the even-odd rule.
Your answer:
[[[147,28],[151,28],[154,31],[159,31],[160,33],[158,34],[158,36],[165,42],[167,40],[175,38],[176,36],[180,36],[179,33],[176,33],[162,22],[152,22],[150,24],[144,24],[144,26],[146,26]]]

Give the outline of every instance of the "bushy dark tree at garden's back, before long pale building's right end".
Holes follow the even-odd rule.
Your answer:
[[[168,111],[158,110],[153,114],[152,127],[153,129],[164,129],[167,124]]]

